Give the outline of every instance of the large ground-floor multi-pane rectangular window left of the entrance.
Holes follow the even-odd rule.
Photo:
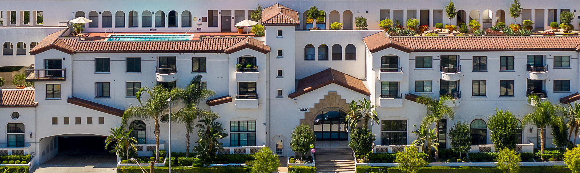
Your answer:
[[[256,146],[256,121],[230,122],[231,146]]]

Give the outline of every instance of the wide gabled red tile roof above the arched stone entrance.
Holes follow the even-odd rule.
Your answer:
[[[327,68],[324,71],[314,73],[313,75],[298,80],[298,89],[296,89],[294,93],[288,94],[288,98],[296,98],[302,94],[320,89],[321,87],[327,86],[331,83],[371,96],[371,92],[368,91],[367,87],[362,83],[362,80],[335,69]]]

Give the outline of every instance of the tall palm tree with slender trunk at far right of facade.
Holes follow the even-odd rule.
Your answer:
[[[528,95],[528,103],[534,105],[534,111],[524,116],[522,120],[522,127],[525,124],[534,124],[540,131],[540,152],[543,154],[545,149],[546,126],[559,126],[560,130],[564,128],[564,118],[561,113],[564,112],[562,106],[552,104],[549,100],[541,101],[538,95]],[[543,157],[541,157],[543,160]]]

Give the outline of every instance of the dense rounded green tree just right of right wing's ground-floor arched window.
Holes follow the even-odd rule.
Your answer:
[[[495,115],[490,116],[488,128],[491,131],[491,142],[498,149],[515,149],[517,145],[517,119],[512,112],[498,110],[495,108]]]

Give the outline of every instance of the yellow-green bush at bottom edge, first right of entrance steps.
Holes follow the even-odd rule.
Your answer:
[[[419,168],[425,167],[427,161],[425,157],[421,156],[414,146],[406,147],[404,152],[398,152],[396,154],[395,162],[397,168],[403,172],[416,173],[419,172]]]

